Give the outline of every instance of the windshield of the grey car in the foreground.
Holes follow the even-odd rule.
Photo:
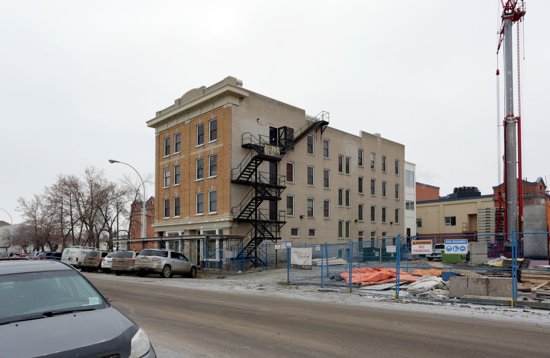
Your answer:
[[[43,271],[0,276],[0,325],[64,312],[102,309],[103,296],[77,271]]]

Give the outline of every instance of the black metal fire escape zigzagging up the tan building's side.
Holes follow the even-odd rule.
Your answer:
[[[263,240],[277,242],[281,239],[281,227],[285,224],[286,210],[277,210],[277,202],[286,188],[285,175],[277,174],[277,163],[288,150],[293,149],[302,139],[313,131],[324,132],[328,125],[328,112],[321,112],[315,118],[308,120],[298,131],[294,128],[278,128],[277,137],[254,136],[250,132],[243,133],[242,146],[249,148],[248,154],[238,167],[232,170],[232,183],[250,186],[250,191],[238,206],[232,208],[235,221],[251,223],[248,243],[243,243],[244,249],[238,259],[251,260],[257,265],[259,258],[258,245]],[[260,165],[270,163],[270,172],[260,171]],[[268,208],[260,208],[263,202],[268,202]]]

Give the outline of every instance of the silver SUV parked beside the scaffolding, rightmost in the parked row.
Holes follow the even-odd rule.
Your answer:
[[[149,273],[158,273],[168,278],[174,275],[197,276],[197,265],[177,251],[164,249],[145,249],[136,256],[134,264],[136,275],[144,277]]]

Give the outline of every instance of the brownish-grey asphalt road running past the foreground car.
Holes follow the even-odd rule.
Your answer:
[[[89,278],[146,330],[159,357],[517,358],[550,351],[546,328],[479,320],[473,310],[471,317],[426,315]]]

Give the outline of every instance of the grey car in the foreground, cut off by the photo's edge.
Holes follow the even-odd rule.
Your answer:
[[[2,357],[156,357],[145,331],[64,262],[0,260],[0,302]]]

